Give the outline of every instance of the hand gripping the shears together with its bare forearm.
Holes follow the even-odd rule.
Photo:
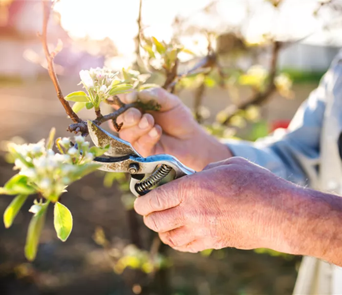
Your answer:
[[[342,266],[342,197],[296,186],[242,158],[156,188],[134,209],[178,251],[269,248]]]

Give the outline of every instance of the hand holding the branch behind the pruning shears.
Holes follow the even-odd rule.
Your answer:
[[[139,98],[142,102],[154,100],[161,105],[160,111],[144,115],[138,109],[130,108],[118,118],[118,123],[124,123],[119,136],[130,142],[141,155],[171,154],[197,171],[209,163],[232,156],[225,145],[197,124],[190,109],[166,90],[150,88],[120,98],[124,103]]]

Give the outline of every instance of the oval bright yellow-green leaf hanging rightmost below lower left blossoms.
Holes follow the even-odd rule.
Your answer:
[[[72,230],[71,212],[63,204],[57,202],[55,203],[53,214],[53,224],[57,236],[61,241],[65,242]]]

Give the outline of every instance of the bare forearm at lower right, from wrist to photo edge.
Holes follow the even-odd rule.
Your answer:
[[[278,251],[342,266],[342,197],[296,187],[281,206]]]

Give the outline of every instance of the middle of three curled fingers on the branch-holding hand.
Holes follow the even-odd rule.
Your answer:
[[[126,128],[124,126],[119,135],[123,140],[133,145],[140,137],[150,132],[154,126],[154,119],[151,114],[144,114],[138,124]]]

